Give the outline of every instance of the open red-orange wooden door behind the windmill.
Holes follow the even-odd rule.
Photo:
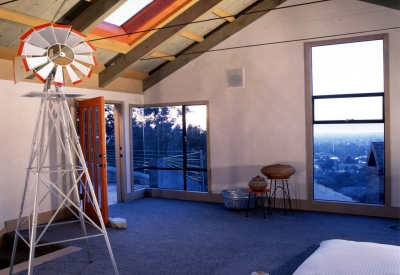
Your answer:
[[[107,159],[105,142],[104,97],[96,97],[79,102],[79,133],[80,143],[94,193],[99,204],[101,216],[108,223],[107,201]],[[83,185],[87,183],[82,180]],[[86,187],[86,186],[84,186]],[[85,192],[85,189],[87,192]],[[85,213],[99,222],[93,207],[93,199],[88,188],[82,188],[82,201]]]

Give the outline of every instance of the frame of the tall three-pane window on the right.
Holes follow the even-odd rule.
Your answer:
[[[314,200],[314,169],[313,169],[313,158],[314,158],[314,124],[329,124],[337,123],[338,121],[314,121],[314,99],[315,98],[343,98],[343,97],[363,97],[372,96],[372,93],[368,94],[345,94],[345,95],[319,95],[313,96],[312,91],[312,60],[311,60],[311,49],[315,46],[326,46],[353,42],[366,42],[371,40],[383,40],[383,70],[384,70],[384,92],[377,93],[383,96],[383,116],[381,123],[384,123],[384,142],[385,142],[385,199],[383,205],[371,205],[363,203],[347,203],[340,201],[320,201]],[[304,43],[304,60],[305,60],[305,105],[306,105],[306,184],[307,184],[307,201],[312,202],[313,210],[327,209],[328,211],[348,214],[364,214],[366,209],[373,211],[376,215],[381,215],[379,209],[382,207],[391,206],[391,186],[390,186],[390,118],[389,118],[389,35],[384,34],[373,34],[367,36],[358,37],[347,37],[338,38],[331,40],[312,41]],[[358,122],[377,122],[377,120],[355,120],[349,121],[348,123]],[[375,212],[376,211],[376,212]],[[371,213],[371,214],[372,214]]]

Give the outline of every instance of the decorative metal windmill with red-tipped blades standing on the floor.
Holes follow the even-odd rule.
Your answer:
[[[104,236],[114,272],[118,274],[87,163],[66,101],[68,98],[78,97],[82,94],[64,93],[62,89],[66,82],[77,84],[82,81],[81,77],[90,77],[92,74],[90,65],[97,65],[96,59],[92,55],[95,48],[85,42],[85,38],[85,35],[72,30],[71,26],[52,23],[34,27],[21,37],[18,50],[21,59],[16,58],[14,63],[15,82],[18,81],[18,78],[24,78],[21,76],[23,75],[20,71],[21,66],[18,66],[18,60],[20,60],[29,74],[33,72],[44,82],[44,88],[42,92],[31,92],[26,95],[27,97],[40,97],[41,104],[15,230],[10,275],[13,271],[18,238],[21,238],[29,246],[28,274],[33,274],[35,249],[43,245],[39,242],[44,233],[51,230],[51,226],[60,229],[60,225],[65,224],[65,222],[53,223],[57,214],[65,209],[68,209],[77,218],[75,221],[80,223],[82,235],[73,238],[68,236],[66,239],[54,240],[47,245],[83,239],[86,242],[89,262],[91,262],[88,238]],[[51,90],[52,79],[54,91]],[[52,155],[53,148],[58,148],[59,152]],[[40,187],[42,186],[46,187],[45,192],[41,192]],[[85,202],[89,202],[93,206],[100,225],[85,214],[80,191],[83,193],[82,198]],[[38,226],[39,207],[46,202],[46,198],[51,196],[56,198],[58,208],[49,222],[41,228]],[[54,206],[54,202],[51,206]],[[26,217],[23,217],[24,211],[28,211]],[[86,224],[97,229],[97,234],[88,235]],[[21,232],[24,229],[29,229],[28,237]]]

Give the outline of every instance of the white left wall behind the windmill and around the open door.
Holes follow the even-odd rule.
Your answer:
[[[4,222],[18,217],[25,171],[28,166],[30,146],[38,108],[39,98],[21,97],[31,91],[42,91],[43,84],[20,82],[16,85],[9,80],[0,80],[0,230]],[[84,93],[85,98],[104,96],[106,100],[123,102],[125,155],[129,150],[129,104],[143,104],[143,95],[120,92],[106,92],[81,88],[64,88],[65,92]],[[126,158],[127,163],[129,159]],[[127,165],[130,165],[129,163]],[[130,166],[127,166],[130,167]],[[130,174],[126,175],[130,182]],[[41,187],[42,190],[45,189]],[[55,209],[45,201],[40,212]]]

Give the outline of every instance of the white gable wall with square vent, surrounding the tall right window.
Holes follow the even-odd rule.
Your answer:
[[[284,6],[303,2],[309,1],[288,0]],[[399,19],[398,10],[335,0],[272,11],[216,48],[397,27]],[[389,33],[392,205],[400,206],[400,33],[365,35],[374,33]],[[146,104],[209,101],[213,193],[245,187],[261,167],[283,163],[297,170],[291,195],[307,199],[304,42],[206,53],[144,93]],[[241,67],[246,87],[225,89],[225,69]]]

